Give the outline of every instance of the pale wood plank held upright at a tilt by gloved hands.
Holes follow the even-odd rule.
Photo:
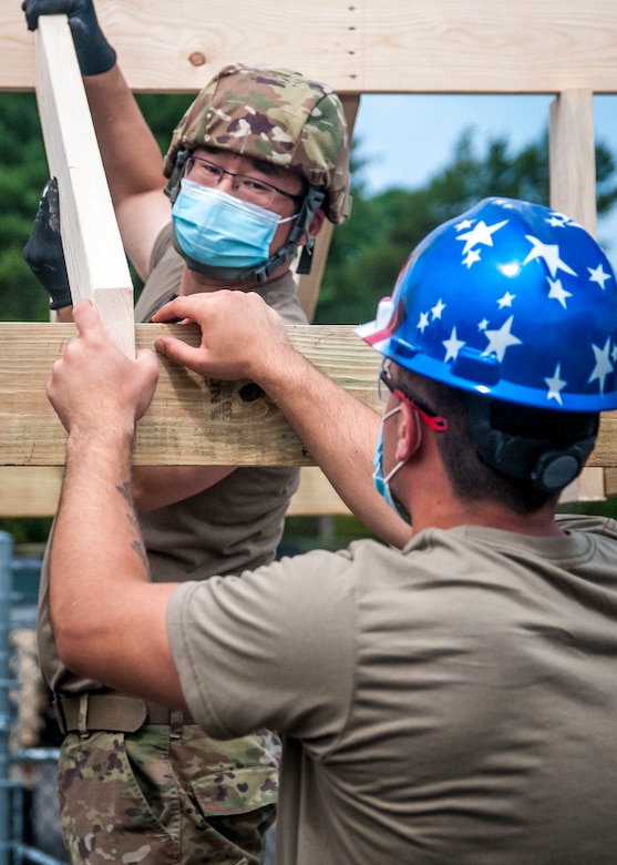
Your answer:
[[[135,354],[133,284],[65,16],[37,31],[37,99],[73,301],[92,298],[120,348]]]

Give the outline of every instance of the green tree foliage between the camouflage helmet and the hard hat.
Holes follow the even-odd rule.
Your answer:
[[[419,241],[480,199],[503,195],[548,203],[546,134],[520,153],[511,153],[501,139],[480,150],[473,131],[467,130],[456,142],[450,164],[424,186],[391,189],[372,197],[367,196],[362,182],[367,166],[357,162],[352,167],[353,175],[360,176],[353,182],[352,214],[332,235],[317,324],[356,324],[372,318],[378,301],[390,294]],[[617,183],[615,159],[601,144],[596,149],[596,169],[598,213],[607,213],[617,199]]]

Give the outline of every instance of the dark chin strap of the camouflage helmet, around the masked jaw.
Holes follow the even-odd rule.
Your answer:
[[[167,195],[172,204],[177,199],[181,181],[184,176],[184,165],[189,155],[189,150],[185,149],[179,151],[174,171],[165,187],[165,195]],[[182,255],[189,271],[194,271],[209,279],[216,279],[217,282],[223,283],[246,282],[248,279],[256,283],[265,283],[282,264],[287,264],[287,262],[295,257],[300,242],[305,238],[300,261],[298,263],[298,273],[309,274],[312,265],[312,251],[315,247],[315,237],[310,235],[309,228],[312,217],[315,216],[316,211],[323,204],[325,197],[326,193],[323,190],[318,189],[317,186],[309,186],[298,216],[291,226],[287,242],[266,262],[263,262],[255,267],[215,267],[209,264],[202,264],[202,262],[192,258],[179,248],[175,231],[172,228],[174,248]]]

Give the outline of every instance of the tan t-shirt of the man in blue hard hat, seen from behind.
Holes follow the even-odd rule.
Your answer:
[[[196,720],[285,736],[278,863],[613,865],[617,523],[559,521],[555,538],[429,530],[402,554],[361,541],[174,592]]]

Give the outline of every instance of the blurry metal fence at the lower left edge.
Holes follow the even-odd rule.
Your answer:
[[[16,558],[0,531],[0,865],[63,865],[58,749],[37,662],[41,560]]]

